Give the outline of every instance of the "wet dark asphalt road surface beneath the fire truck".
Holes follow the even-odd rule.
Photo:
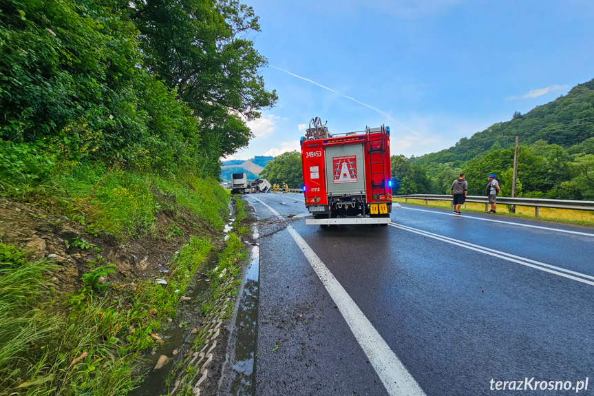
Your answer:
[[[288,217],[306,212],[297,194],[244,199],[260,234],[256,395],[569,395],[535,382],[586,377],[594,395],[593,229],[403,207],[389,227],[323,230]]]

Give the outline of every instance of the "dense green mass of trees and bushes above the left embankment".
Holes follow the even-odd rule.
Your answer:
[[[277,100],[258,31],[233,0],[3,1],[0,143],[216,177]]]

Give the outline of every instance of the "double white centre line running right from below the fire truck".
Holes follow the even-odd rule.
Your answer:
[[[591,286],[594,286],[594,282],[591,281],[591,280],[588,280],[588,279],[593,279],[594,280],[594,277],[591,276],[591,275],[586,275],[584,273],[570,271],[569,269],[563,269],[563,268],[560,268],[560,267],[555,267],[553,265],[545,264],[544,262],[538,262],[538,261],[535,261],[535,260],[530,260],[530,259],[527,259],[527,258],[522,258],[520,256],[514,256],[513,254],[510,254],[510,253],[505,253],[505,252],[502,252],[502,251],[497,251],[497,250],[491,249],[489,247],[481,247],[481,246],[476,245],[476,244],[471,244],[469,242],[464,242],[462,240],[456,240],[454,238],[449,238],[447,236],[441,236],[441,235],[438,235],[436,233],[431,233],[429,231],[423,231],[421,229],[416,229],[416,228],[412,228],[412,227],[408,227],[408,226],[403,226],[403,225],[399,225],[399,224],[393,224],[393,223],[390,223],[389,225],[392,226],[392,227],[403,229],[405,231],[410,231],[410,232],[413,232],[413,233],[418,233],[419,235],[422,235],[422,236],[427,236],[429,238],[434,238],[436,240],[441,240],[443,242],[455,244],[455,245],[460,246],[460,247],[465,247],[466,249],[470,249],[470,250],[478,251],[480,253],[488,254],[489,256],[494,256],[494,257],[497,257],[497,258],[502,258],[502,259],[507,260],[507,261],[516,262],[518,264],[522,264],[522,265],[525,265],[527,267],[531,267],[531,268],[534,268],[534,269],[540,269],[540,271],[545,271],[545,272],[548,272],[548,273],[553,273],[555,275],[559,275],[559,276],[562,276],[564,278],[569,278],[569,279],[577,280],[577,282],[582,282],[582,283],[590,284]],[[557,271],[555,271],[555,270],[557,270]],[[563,273],[563,272],[560,272],[560,271],[564,271],[566,273]],[[577,276],[573,276],[573,275],[570,275],[570,274],[577,275]],[[578,276],[580,276],[582,278],[578,278]],[[588,278],[588,279],[584,279],[584,278]]]

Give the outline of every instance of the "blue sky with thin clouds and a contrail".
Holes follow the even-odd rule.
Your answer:
[[[594,1],[244,0],[279,101],[231,158],[299,149],[330,132],[389,125],[392,154],[420,156],[594,78]]]

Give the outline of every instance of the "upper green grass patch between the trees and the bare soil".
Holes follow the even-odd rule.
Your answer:
[[[174,209],[185,207],[202,225],[222,230],[230,200],[214,179],[123,171],[117,165],[61,164],[45,171],[43,178],[21,174],[0,169],[0,176],[5,176],[0,195],[34,198],[67,220],[87,226],[88,232],[109,233],[120,239],[156,233],[156,215],[168,197],[175,200]]]

